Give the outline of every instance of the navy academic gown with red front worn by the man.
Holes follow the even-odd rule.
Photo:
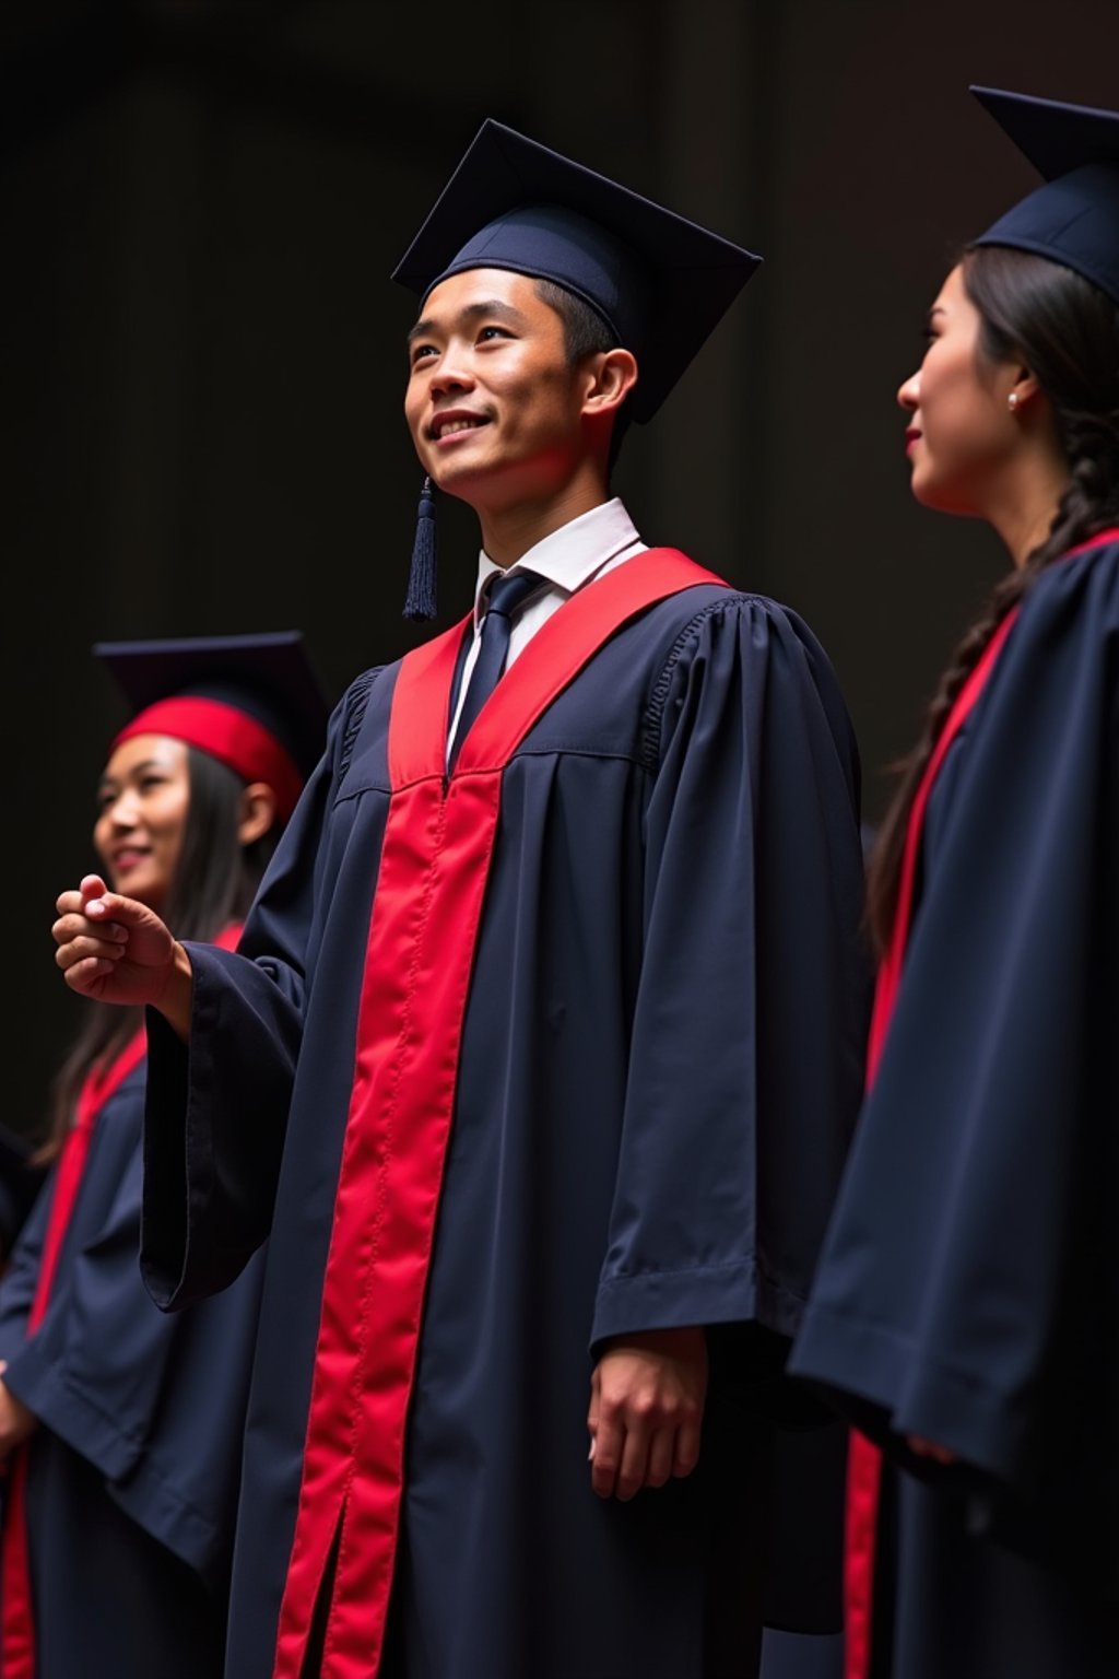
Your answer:
[[[807,626],[698,571],[693,586],[627,616],[512,752],[483,902],[455,876],[438,949],[408,942],[435,915],[440,871],[456,866],[450,846],[424,873],[431,836],[470,798],[481,821],[493,794],[471,742],[495,702],[512,715],[577,603],[596,589],[612,599],[648,564],[639,556],[611,574],[621,583],[589,584],[539,631],[475,722],[450,792],[431,766],[446,740],[451,643],[466,626],[448,633],[426,685],[409,677],[426,648],[359,678],[243,954],[191,947],[190,1044],[151,1023],[154,1296],[176,1308],[221,1288],[273,1232],[230,1679],[319,1671],[289,1614],[309,1556],[304,1518],[317,1514],[310,1590],[319,1635],[330,1615],[327,1676],[752,1671],[742,1652],[762,1614],[772,1417],[789,1402],[783,1420],[805,1420],[782,1363],[857,1110],[867,1012],[857,757]],[[408,739],[393,799],[431,792],[423,829],[389,845],[396,730]],[[426,782],[408,767],[413,751]],[[471,831],[468,818],[455,845],[470,846]],[[433,1044],[440,1033],[408,1014],[391,1061],[394,1078],[408,1076],[409,1056],[438,1063],[429,1101],[453,1108],[446,1152],[435,1179],[414,1182],[436,1148],[435,1122],[423,1090],[404,1150],[393,1086],[362,1177],[361,1128],[347,1135],[354,1070],[359,1095],[374,1078],[362,1039],[398,992],[424,1019],[428,992],[453,984],[455,915],[480,925],[450,1061]],[[393,1221],[428,1204],[438,1204],[429,1254],[391,1251]],[[332,1295],[342,1229],[356,1259]],[[396,1313],[396,1291],[421,1264],[421,1306],[413,1293]],[[700,1467],[627,1504],[596,1498],[586,1415],[604,1340],[696,1323],[711,1326],[713,1348]],[[339,1350],[347,1331],[356,1350]],[[409,1335],[404,1419],[386,1410],[386,1390]],[[351,1352],[369,1363],[330,1405],[334,1365]],[[404,1425],[399,1506],[383,1525],[362,1506],[362,1528],[361,1474],[336,1494],[327,1459],[388,1451]],[[342,1603],[364,1550],[379,1560]],[[812,1605],[804,1612],[810,1624]]]

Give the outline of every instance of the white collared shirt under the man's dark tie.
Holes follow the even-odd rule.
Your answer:
[[[646,547],[648,542],[641,541],[632,519],[616,495],[612,500],[592,507],[591,512],[579,514],[577,519],[560,526],[559,531],[552,531],[542,542],[530,547],[527,554],[522,554],[505,576],[513,578],[518,571],[535,571],[537,576],[547,579],[547,588],[539,589],[513,620],[505,668],[508,670],[513,660],[523,653],[537,630],[549,621],[554,611],[559,611],[575,589],[582,589],[584,584],[612,571],[614,566],[621,566],[622,561],[632,559],[634,554],[643,554]],[[463,678],[458,685],[458,700],[455,702],[455,715],[451,717],[448,734],[448,751],[450,742],[455,739],[458,714],[466,697],[466,687],[470,685],[470,672],[475,668],[478,658],[478,636],[481,633],[481,620],[485,618],[485,588],[490,578],[500,571],[502,568],[481,549],[475,588],[475,633],[463,665]]]

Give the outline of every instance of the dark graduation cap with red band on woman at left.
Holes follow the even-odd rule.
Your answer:
[[[329,704],[297,630],[163,641],[97,641],[138,734],[201,747],[243,781],[267,781],[280,818],[295,809],[322,752]]]

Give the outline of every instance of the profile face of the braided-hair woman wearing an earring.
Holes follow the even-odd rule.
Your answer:
[[[953,269],[928,317],[928,349],[898,391],[906,410],[913,494],[939,512],[985,517],[1018,426],[1008,396],[1018,368],[980,354],[980,314]]]

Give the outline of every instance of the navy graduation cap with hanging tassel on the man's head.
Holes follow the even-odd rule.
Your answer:
[[[393,270],[418,297],[466,269],[508,269],[580,297],[638,358],[627,410],[651,420],[762,259],[663,205],[487,119]],[[431,564],[431,485],[404,613],[435,616],[416,588]],[[429,609],[428,609],[429,608]]]

